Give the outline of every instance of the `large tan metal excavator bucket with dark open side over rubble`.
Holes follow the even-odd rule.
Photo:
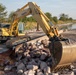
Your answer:
[[[59,70],[69,67],[70,64],[76,62],[76,35],[65,35],[68,37],[64,41],[55,41],[49,44],[50,52],[53,57],[52,70]]]

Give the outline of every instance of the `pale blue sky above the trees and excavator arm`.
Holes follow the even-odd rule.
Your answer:
[[[50,12],[52,16],[65,13],[76,19],[76,0],[0,0],[5,5],[8,13],[16,11],[28,2],[36,2],[43,12]]]

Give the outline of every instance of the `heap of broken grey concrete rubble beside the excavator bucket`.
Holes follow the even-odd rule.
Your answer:
[[[51,73],[52,57],[48,45],[49,41],[45,39],[19,46],[13,56],[14,63],[7,61],[1,65],[4,71],[0,71],[0,75],[60,75]]]

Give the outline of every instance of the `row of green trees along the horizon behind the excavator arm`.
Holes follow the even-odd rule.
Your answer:
[[[13,21],[13,15],[14,15],[14,12],[10,12],[8,18],[6,18],[6,16],[7,16],[6,7],[2,4],[0,4],[0,22],[5,22],[5,21],[12,22]],[[55,24],[57,24],[59,20],[63,21],[63,22],[73,21],[73,18],[69,17],[69,15],[67,15],[65,13],[61,13],[59,15],[59,18],[57,18],[57,16],[52,16],[52,14],[49,12],[46,12],[45,15],[50,19],[50,21],[52,21]],[[22,22],[27,22],[27,21],[36,22],[32,16],[21,18],[20,21],[22,21]]]

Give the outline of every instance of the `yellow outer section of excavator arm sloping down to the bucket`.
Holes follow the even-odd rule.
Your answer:
[[[54,36],[58,36],[58,32],[56,32],[51,24],[50,20],[47,16],[41,11],[40,7],[36,5],[36,3],[29,2],[29,8],[31,9],[31,14],[35,18],[35,20],[40,24],[43,31],[46,35],[51,38]]]

